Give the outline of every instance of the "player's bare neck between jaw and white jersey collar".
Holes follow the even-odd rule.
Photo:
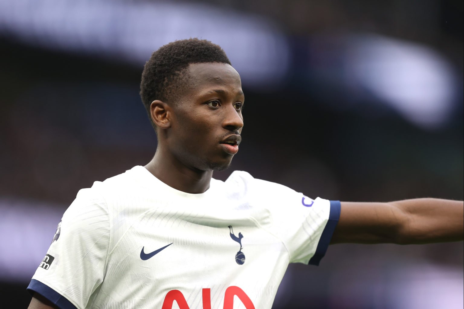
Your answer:
[[[159,150],[145,168],[169,187],[194,194],[209,189],[213,177],[212,170],[189,168],[174,157],[163,155]]]

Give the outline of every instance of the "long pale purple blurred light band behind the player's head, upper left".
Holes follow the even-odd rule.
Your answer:
[[[288,69],[288,45],[270,22],[199,3],[0,1],[0,34],[137,64],[176,39],[206,38],[226,51],[249,87],[275,87]]]

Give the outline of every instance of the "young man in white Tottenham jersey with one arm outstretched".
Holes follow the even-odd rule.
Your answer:
[[[463,202],[312,200],[243,171],[213,179],[244,124],[240,76],[218,45],[161,47],[141,96],[154,158],[79,191],[29,308],[270,309],[287,265],[318,265],[329,243],[463,240]]]

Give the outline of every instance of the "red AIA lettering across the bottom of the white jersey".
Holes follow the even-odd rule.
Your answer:
[[[203,289],[203,309],[211,309],[211,289]],[[238,286],[229,286],[224,296],[224,309],[233,309],[233,299],[237,296],[245,305],[246,309],[255,309],[250,297]],[[180,309],[190,309],[187,305],[184,295],[180,290],[170,290],[164,297],[163,307],[161,309],[172,309],[176,301]]]

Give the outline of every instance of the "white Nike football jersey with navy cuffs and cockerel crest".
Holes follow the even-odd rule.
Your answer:
[[[136,166],[79,191],[28,290],[59,308],[270,309],[289,263],[318,265],[339,214],[243,171],[189,194]]]

